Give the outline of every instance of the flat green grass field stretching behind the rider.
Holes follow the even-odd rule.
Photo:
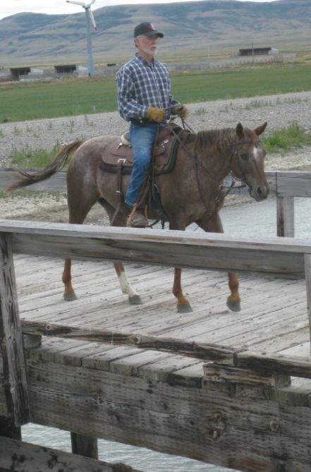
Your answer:
[[[181,103],[256,97],[311,90],[311,65],[261,64],[228,70],[171,74],[171,92]],[[0,123],[116,110],[114,77],[70,78],[0,85]]]

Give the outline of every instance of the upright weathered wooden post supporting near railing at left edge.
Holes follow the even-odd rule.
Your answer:
[[[7,415],[28,423],[28,388],[10,234],[0,234],[0,348]]]

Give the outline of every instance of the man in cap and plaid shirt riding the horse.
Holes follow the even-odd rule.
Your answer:
[[[148,22],[134,30],[138,52],[116,74],[118,111],[130,121],[130,143],[133,148],[133,171],[126,193],[126,203],[136,207],[133,226],[147,226],[143,209],[137,208],[140,188],[150,165],[152,144],[157,131],[165,126],[171,113],[185,119],[187,109],[171,95],[171,79],[166,65],[154,59],[157,42],[163,33]]]

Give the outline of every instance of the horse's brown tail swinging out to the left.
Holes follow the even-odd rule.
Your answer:
[[[28,172],[22,171],[20,169],[16,169],[20,173],[21,176],[16,176],[16,182],[11,183],[11,185],[8,185],[6,187],[6,192],[12,192],[13,190],[18,190],[19,188],[27,187],[29,185],[32,185],[33,183],[41,182],[44,180],[47,180],[47,178],[50,178],[56,172],[58,172],[60,169],[63,169],[63,167],[66,165],[66,162],[68,160],[68,157],[75,152],[80,145],[85,143],[84,140],[80,141],[74,141],[73,143],[70,143],[63,147],[54,159],[47,164],[44,169],[42,169],[39,172],[36,172],[35,174],[28,174]]]

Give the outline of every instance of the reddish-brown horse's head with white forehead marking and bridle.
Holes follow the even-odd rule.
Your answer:
[[[231,150],[231,170],[250,188],[250,195],[258,202],[269,195],[270,186],[264,174],[264,149],[259,136],[266,129],[267,123],[255,130],[236,126],[236,141]]]

